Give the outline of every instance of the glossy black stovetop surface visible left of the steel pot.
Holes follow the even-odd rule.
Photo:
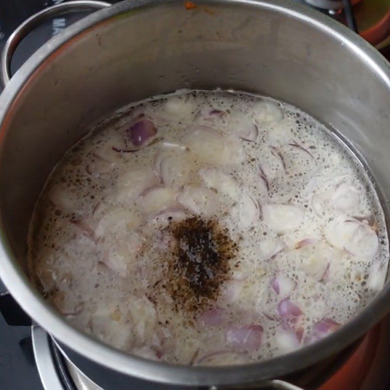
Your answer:
[[[35,12],[63,0],[0,0],[0,51],[13,30]],[[106,0],[117,2],[116,0]],[[303,2],[303,0],[295,0]],[[20,43],[11,63],[14,73],[31,54],[53,35],[86,14],[71,14],[48,22]],[[390,54],[390,50],[388,50]],[[1,92],[1,87],[0,87]],[[0,293],[5,288],[0,280]],[[43,390],[35,365],[30,327],[9,326],[0,315],[0,389]]]

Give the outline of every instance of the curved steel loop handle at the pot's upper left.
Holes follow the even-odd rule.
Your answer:
[[[52,19],[55,16],[89,9],[101,9],[109,7],[111,4],[105,1],[98,0],[75,0],[61,2],[51,7],[45,8],[37,12],[30,18],[26,19],[17,27],[17,29],[10,35],[5,42],[5,46],[0,58],[0,85],[5,85],[11,79],[11,59],[18,47],[20,41],[31,31],[37,28],[41,23]]]

